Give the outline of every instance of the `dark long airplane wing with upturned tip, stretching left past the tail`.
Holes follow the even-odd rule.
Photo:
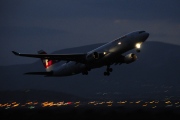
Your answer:
[[[78,54],[26,54],[26,53],[18,53],[15,51],[12,51],[12,52],[17,56],[23,56],[23,57],[75,61],[75,62],[81,62],[81,63],[86,62],[86,54],[84,54],[84,53],[78,53]]]

